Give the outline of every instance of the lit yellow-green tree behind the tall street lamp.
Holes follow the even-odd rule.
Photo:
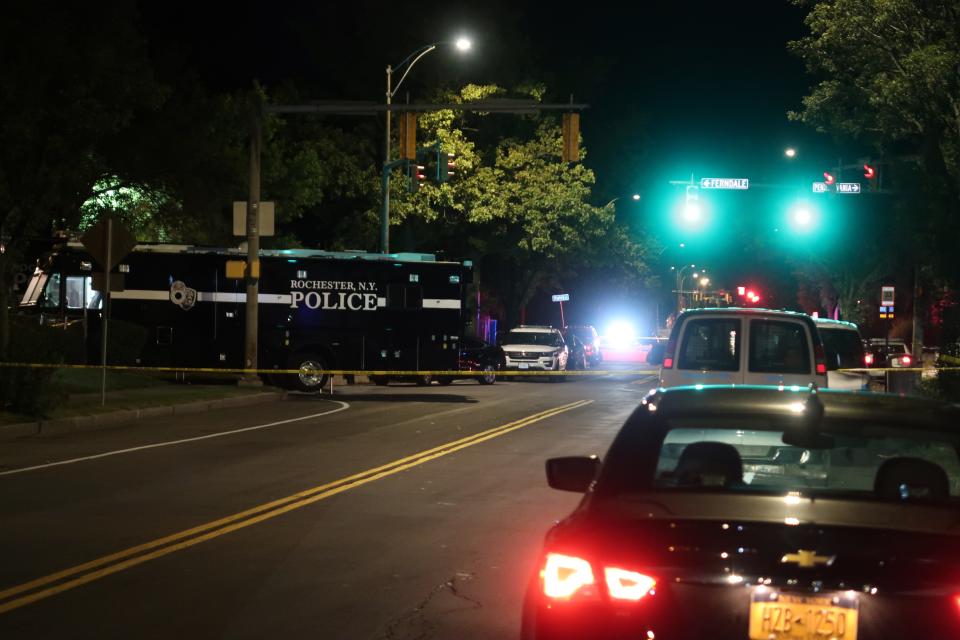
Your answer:
[[[543,88],[518,93],[539,99]],[[467,85],[438,99],[504,94],[495,85]],[[590,204],[593,172],[561,161],[556,119],[500,116],[494,124],[489,114],[439,111],[419,118],[418,139],[421,146],[439,142],[444,153],[455,153],[457,175],[413,195],[394,181],[397,246],[440,246],[451,257],[473,259],[486,296],[503,306],[508,326],[538,289],[562,287],[584,273],[603,273],[611,288],[644,281],[642,247],[617,223],[612,205]]]

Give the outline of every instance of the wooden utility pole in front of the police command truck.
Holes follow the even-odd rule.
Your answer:
[[[260,97],[254,95],[250,110],[250,194],[247,198],[247,305],[243,368],[256,370],[257,331],[260,311],[260,145],[263,120]],[[261,386],[256,373],[246,373],[240,380],[244,386]]]

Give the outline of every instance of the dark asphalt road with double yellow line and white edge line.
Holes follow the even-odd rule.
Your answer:
[[[0,638],[516,637],[543,461],[650,378],[340,387],[5,443]]]

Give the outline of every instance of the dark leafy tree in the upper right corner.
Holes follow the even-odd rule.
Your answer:
[[[960,5],[793,1],[809,8],[811,33],[789,48],[818,81],[790,117],[884,155],[911,192],[909,226],[890,231],[913,238],[916,255],[934,244],[952,256],[960,231]],[[952,259],[942,263],[956,269]]]

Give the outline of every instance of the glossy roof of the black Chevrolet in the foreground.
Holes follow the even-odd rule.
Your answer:
[[[954,429],[960,424],[960,405],[883,393],[811,389],[801,386],[696,385],[655,389],[643,404],[667,418],[796,416],[798,403],[815,398],[824,417],[862,419],[901,426]],[[653,405],[655,408],[650,408]]]

